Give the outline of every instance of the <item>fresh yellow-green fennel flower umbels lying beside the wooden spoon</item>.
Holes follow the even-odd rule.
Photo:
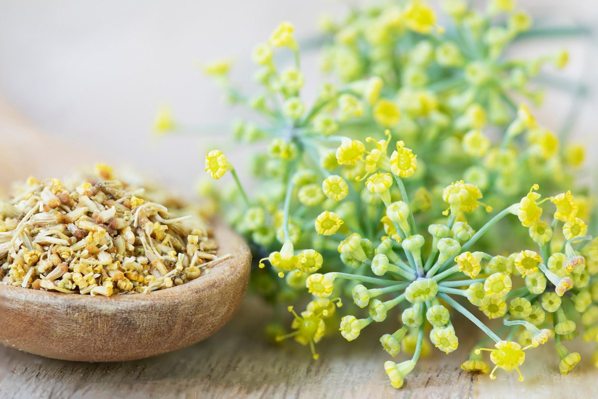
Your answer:
[[[384,364],[400,388],[432,346],[457,348],[451,319],[460,313],[486,336],[464,370],[523,379],[528,349],[550,340],[540,350],[553,347],[566,374],[580,358],[566,342],[598,340],[598,239],[586,225],[587,189],[575,182],[583,147],[536,119],[542,90],[528,82],[545,66],[563,68],[568,54],[505,56],[532,29],[515,1],[476,11],[449,0],[443,9],[449,26],[418,0],[322,19],[331,77],[313,100],[301,96],[300,43],[288,22],[254,50],[257,94],[231,83],[229,63],[205,66],[232,103],[260,116],[234,123],[234,137],[264,145],[249,167],[251,193],[220,150],[205,170],[213,179],[230,171],[234,185],[204,182],[200,192],[261,258],[253,290],[277,305],[312,294],[304,311],[288,306],[290,332],[268,326],[277,340],[292,337],[318,358],[315,344],[329,332],[352,341],[390,315],[382,349],[411,355]],[[294,63],[280,66],[279,53]],[[156,126],[179,124],[162,109]]]

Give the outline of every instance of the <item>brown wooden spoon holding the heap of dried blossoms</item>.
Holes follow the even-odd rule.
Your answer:
[[[0,141],[11,135],[6,128],[14,127],[34,138],[36,147],[56,148],[50,136],[14,115],[0,99]],[[7,149],[25,153],[25,148]],[[40,170],[46,173],[38,165]],[[45,357],[95,362],[146,358],[209,337],[239,307],[251,268],[251,252],[242,237],[221,223],[214,224],[213,233],[217,255],[231,257],[210,267],[208,274],[165,290],[100,297],[0,284],[0,342]]]

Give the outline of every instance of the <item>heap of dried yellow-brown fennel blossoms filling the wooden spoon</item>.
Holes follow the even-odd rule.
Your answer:
[[[109,178],[110,176],[103,176]],[[67,294],[112,296],[181,285],[216,257],[208,229],[169,218],[116,179],[29,178],[0,202],[0,281]]]

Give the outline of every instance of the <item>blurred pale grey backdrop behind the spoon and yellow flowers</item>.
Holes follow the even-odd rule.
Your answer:
[[[298,39],[313,38],[318,16],[340,19],[350,7],[364,4],[0,0],[0,93],[56,139],[88,147],[106,162],[131,164],[190,194],[197,176],[205,173],[205,153],[228,140],[230,122],[239,115],[197,64],[232,57],[233,80],[251,89],[251,50],[279,22],[294,23]],[[548,26],[594,26],[598,19],[598,3],[588,0],[520,0],[518,6]],[[598,108],[595,99],[572,105],[570,92],[579,82],[596,86],[595,43],[592,37],[565,37],[521,41],[514,49],[527,56],[570,50],[571,62],[559,75],[568,90],[548,92],[539,115],[558,130],[571,106],[579,111],[573,135],[587,143],[589,170],[595,169],[598,149]],[[312,51],[303,66],[309,93],[319,81],[317,54]],[[152,135],[156,111],[164,104],[172,106],[176,120],[205,133]],[[11,134],[0,131],[0,139]]]

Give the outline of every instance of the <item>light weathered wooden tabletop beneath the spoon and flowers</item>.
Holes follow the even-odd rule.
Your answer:
[[[42,315],[40,315],[42,317]],[[357,340],[325,337],[319,360],[288,341],[267,342],[262,333],[270,311],[250,297],[233,320],[189,348],[126,363],[51,360],[0,346],[0,398],[595,398],[598,372],[589,356],[562,376],[552,348],[527,352],[522,371],[498,378],[460,369],[473,340],[466,321],[457,325],[460,346],[446,355],[434,349],[422,358],[401,389],[390,386],[383,364],[392,359],[378,342],[382,325]],[[389,327],[385,322],[386,328]],[[552,345],[552,341],[546,345]],[[588,347],[572,345],[582,351]],[[546,349],[542,351],[541,349]],[[548,350],[550,349],[550,350]],[[591,349],[591,347],[590,347]],[[77,348],[73,348],[77,351]],[[408,357],[399,354],[397,360]],[[395,361],[397,361],[395,360]]]

